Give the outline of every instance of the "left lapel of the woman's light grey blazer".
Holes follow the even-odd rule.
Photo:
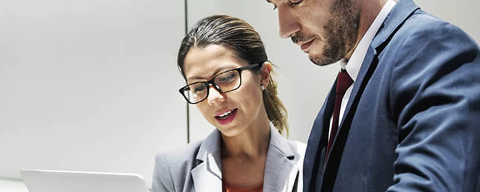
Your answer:
[[[196,157],[200,164],[191,171],[196,192],[222,192],[220,136],[215,130],[200,146]]]

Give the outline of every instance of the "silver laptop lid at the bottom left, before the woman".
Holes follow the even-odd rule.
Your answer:
[[[149,192],[138,174],[22,169],[29,192]]]

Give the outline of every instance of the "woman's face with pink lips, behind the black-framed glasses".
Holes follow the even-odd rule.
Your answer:
[[[249,64],[227,48],[210,45],[205,48],[193,47],[185,56],[183,70],[187,83],[209,81],[217,74]],[[212,85],[205,100],[196,104],[205,119],[226,136],[235,136],[251,127],[255,121],[267,118],[264,109],[262,88],[268,84],[270,66],[260,74],[244,70],[238,89],[220,93]]]

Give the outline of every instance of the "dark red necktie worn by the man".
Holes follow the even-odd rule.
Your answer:
[[[338,72],[336,78],[336,96],[335,96],[335,108],[333,109],[332,129],[330,132],[330,138],[328,139],[327,152],[325,154],[325,161],[328,159],[328,153],[332,147],[333,140],[335,139],[336,132],[338,131],[338,119],[340,116],[340,108],[342,106],[342,99],[347,91],[348,87],[353,83],[352,78],[347,73],[347,70],[342,69]]]

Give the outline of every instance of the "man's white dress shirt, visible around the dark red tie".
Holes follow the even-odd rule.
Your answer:
[[[357,48],[353,50],[350,60],[348,61],[346,59],[340,60],[340,67],[342,69],[347,70],[348,75],[350,75],[350,77],[353,80],[353,84],[351,84],[348,87],[347,91],[345,92],[345,95],[342,98],[342,105],[340,106],[340,116],[338,117],[338,128],[340,128],[340,123],[342,122],[343,114],[345,113],[345,108],[347,108],[347,103],[352,93],[353,85],[355,84],[355,80],[357,79],[357,75],[359,74],[360,67],[361,67],[361,64],[363,63],[363,60],[365,59],[367,50],[370,44],[372,43],[373,37],[377,34],[378,29],[380,29],[380,26],[384,23],[385,18],[387,17],[388,13],[390,13],[390,11],[393,9],[395,4],[396,3],[394,0],[387,0],[382,10],[378,13],[377,17],[373,21],[372,25],[370,25],[365,35],[363,35],[363,37],[361,38]],[[330,119],[328,138],[330,138],[331,132],[332,132],[332,119]]]

